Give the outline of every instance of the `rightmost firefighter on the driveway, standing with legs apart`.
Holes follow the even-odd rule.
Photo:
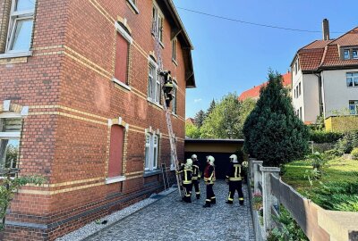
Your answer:
[[[237,161],[235,154],[230,155],[230,166],[226,171],[226,182],[229,184],[229,195],[226,204],[233,204],[234,193],[239,194],[239,204],[243,205],[243,188],[242,188],[242,166]]]

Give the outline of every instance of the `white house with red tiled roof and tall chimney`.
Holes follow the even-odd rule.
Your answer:
[[[305,123],[344,109],[358,114],[358,28],[330,39],[328,20],[322,25],[323,39],[303,46],[291,62],[294,110]]]

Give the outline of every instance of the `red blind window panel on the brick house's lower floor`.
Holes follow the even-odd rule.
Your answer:
[[[113,125],[109,147],[108,178],[122,176],[124,157],[124,127]]]

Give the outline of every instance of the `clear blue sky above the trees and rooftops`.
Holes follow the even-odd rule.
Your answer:
[[[241,21],[292,29],[321,30],[329,21],[335,38],[358,26],[357,0],[174,0],[176,7]],[[347,7],[349,6],[349,7]],[[226,21],[178,9],[195,47],[197,88],[187,89],[186,117],[206,111],[212,99],[266,81],[268,69],[285,73],[296,51],[322,34],[270,29]]]

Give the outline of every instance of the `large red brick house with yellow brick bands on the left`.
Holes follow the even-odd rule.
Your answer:
[[[0,161],[47,178],[15,196],[4,239],[54,240],[163,189],[161,163],[173,163],[153,28],[175,79],[180,160],[195,87],[172,0],[1,3]]]

